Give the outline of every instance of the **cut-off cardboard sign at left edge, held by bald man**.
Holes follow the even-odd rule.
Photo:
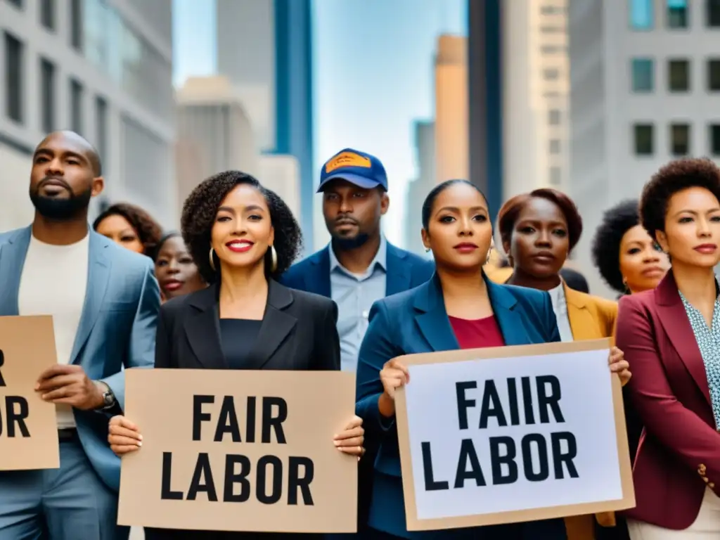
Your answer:
[[[52,317],[0,317],[1,471],[60,467],[55,405],[35,392],[56,363]]]

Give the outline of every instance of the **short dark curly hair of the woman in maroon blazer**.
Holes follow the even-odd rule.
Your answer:
[[[645,184],[640,196],[640,221],[657,241],[658,230],[665,232],[665,215],[670,198],[690,187],[702,187],[720,201],[720,168],[707,158],[670,161]]]

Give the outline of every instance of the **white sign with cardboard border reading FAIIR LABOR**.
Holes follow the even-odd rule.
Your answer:
[[[402,356],[395,395],[409,531],[635,505],[610,342]]]

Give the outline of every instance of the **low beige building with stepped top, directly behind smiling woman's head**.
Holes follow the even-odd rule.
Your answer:
[[[176,102],[179,204],[217,172],[236,169],[259,176],[253,126],[227,78],[189,78],[177,91]]]

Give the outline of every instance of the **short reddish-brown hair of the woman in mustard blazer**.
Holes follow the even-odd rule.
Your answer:
[[[534,189],[530,193],[523,193],[511,197],[503,204],[500,212],[498,212],[498,230],[500,231],[500,240],[502,240],[503,245],[510,243],[510,239],[513,237],[515,222],[518,220],[518,216],[520,212],[523,211],[525,205],[532,199],[545,199],[546,201],[554,203],[560,209],[560,212],[562,212],[567,221],[567,239],[570,243],[570,251],[572,251],[572,248],[577,246],[580,235],[582,235],[582,217],[580,217],[580,212],[570,197],[552,188]]]

